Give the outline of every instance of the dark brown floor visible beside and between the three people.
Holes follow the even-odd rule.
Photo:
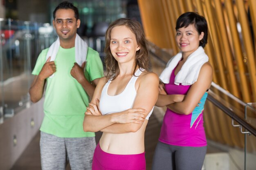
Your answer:
[[[148,121],[148,125],[145,132],[145,152],[147,170],[151,169],[150,167],[152,165],[153,154],[155,146],[157,144],[157,139],[159,137],[160,128],[161,125],[159,124],[155,116],[152,114],[150,117],[150,121]],[[99,141],[100,137],[101,132],[97,132],[97,142]],[[18,161],[16,161],[11,170],[41,170],[39,141],[40,132],[38,132],[34,139],[32,139],[30,144],[22,153]],[[69,165],[67,165],[66,170],[71,170]]]

